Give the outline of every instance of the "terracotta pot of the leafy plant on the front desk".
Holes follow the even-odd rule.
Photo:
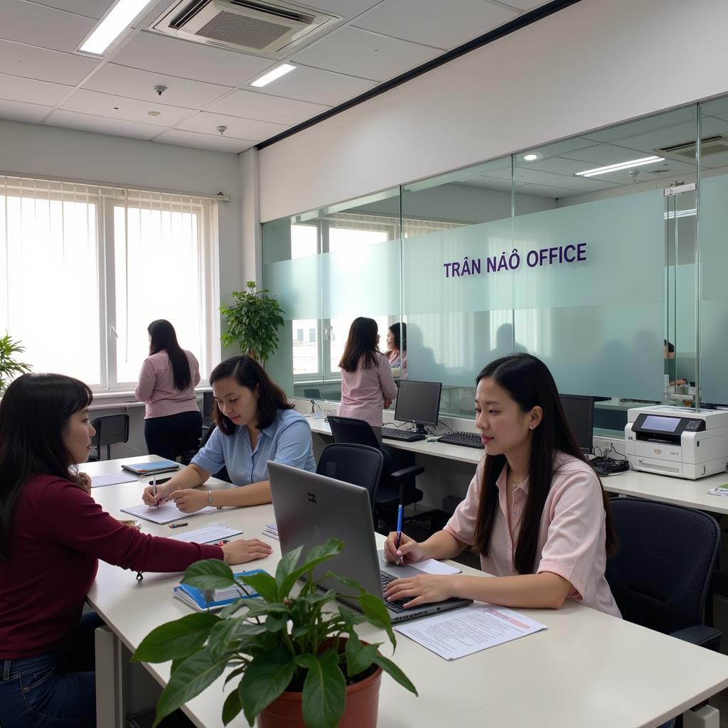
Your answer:
[[[347,687],[347,707],[339,728],[376,728],[381,668],[368,678]],[[260,715],[258,728],[304,728],[302,693],[284,692]]]

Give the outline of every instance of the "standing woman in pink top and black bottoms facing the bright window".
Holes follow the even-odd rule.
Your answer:
[[[199,384],[199,363],[177,343],[174,326],[166,319],[152,321],[149,357],[141,365],[134,396],[146,404],[144,439],[150,454],[174,460],[197,450],[202,414],[194,388]]]

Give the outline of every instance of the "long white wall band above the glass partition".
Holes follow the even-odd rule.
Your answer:
[[[721,0],[582,0],[261,151],[261,220],[728,92]]]

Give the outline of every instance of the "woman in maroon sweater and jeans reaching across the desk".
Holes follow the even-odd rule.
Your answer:
[[[91,390],[59,374],[24,374],[0,401],[0,726],[95,726],[92,628],[84,599],[98,559],[134,571],[183,571],[201,558],[244,563],[271,547],[141,534],[90,496],[85,462]],[[121,576],[121,574],[120,574]],[[82,664],[82,662],[86,664]]]

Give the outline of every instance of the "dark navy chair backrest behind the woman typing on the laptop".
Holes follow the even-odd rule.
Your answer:
[[[606,565],[629,622],[665,634],[703,625],[720,542],[715,518],[641,498],[612,498],[619,551]]]

